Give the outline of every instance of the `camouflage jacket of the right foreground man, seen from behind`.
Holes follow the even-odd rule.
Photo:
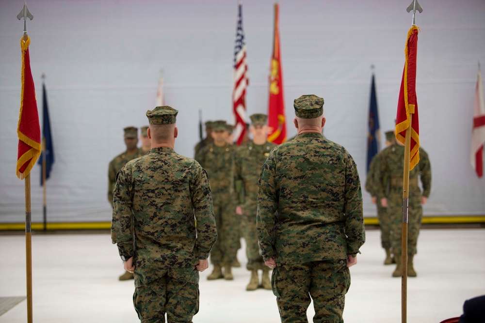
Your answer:
[[[354,159],[318,133],[280,144],[259,178],[257,218],[265,260],[303,263],[356,254],[365,231]]]

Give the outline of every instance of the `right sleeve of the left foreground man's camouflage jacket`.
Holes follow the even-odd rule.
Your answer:
[[[192,207],[197,221],[197,240],[195,242],[198,249],[197,256],[198,259],[207,259],[217,240],[217,229],[207,172],[198,163],[192,165],[191,191]]]

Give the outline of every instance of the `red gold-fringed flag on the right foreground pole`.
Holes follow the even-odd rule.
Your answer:
[[[420,136],[418,119],[418,101],[416,99],[416,57],[418,54],[419,28],[412,26],[407,33],[403,79],[399,91],[396,116],[396,139],[405,142],[406,129],[411,127],[411,147],[409,170],[420,161]],[[410,114],[414,114],[409,124]]]

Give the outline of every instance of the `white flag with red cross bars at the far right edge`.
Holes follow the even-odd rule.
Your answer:
[[[485,104],[482,84],[482,71],[478,68],[477,86],[475,88],[475,107],[473,109],[473,129],[471,130],[471,167],[477,176],[483,176],[483,156],[485,143]]]

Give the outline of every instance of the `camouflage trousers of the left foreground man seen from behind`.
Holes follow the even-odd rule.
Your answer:
[[[192,322],[199,311],[195,267],[135,269],[133,305],[141,323]]]

